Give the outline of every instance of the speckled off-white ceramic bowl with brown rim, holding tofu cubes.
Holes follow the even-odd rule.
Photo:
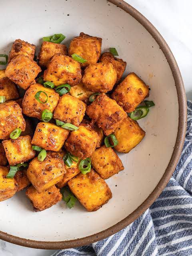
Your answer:
[[[22,246],[70,248],[96,242],[121,230],[144,212],[168,183],[178,162],[186,128],[186,97],[180,71],[168,45],[138,11],[122,0],[15,0],[1,3],[0,53],[20,38],[37,46],[43,36],[66,35],[67,46],[80,32],[103,39],[102,51],[118,50],[150,86],[156,104],[139,120],[144,140],[120,154],[124,171],[106,180],[113,197],[96,212],[64,202],[33,212],[24,192],[0,202],[0,238]]]

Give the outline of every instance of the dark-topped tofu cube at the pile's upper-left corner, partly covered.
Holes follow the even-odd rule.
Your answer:
[[[16,39],[12,45],[8,62],[10,62],[10,60],[20,54],[23,54],[27,56],[30,60],[33,60],[35,56],[35,45],[22,41],[20,39]]]

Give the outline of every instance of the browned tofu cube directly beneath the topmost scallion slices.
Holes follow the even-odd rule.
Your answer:
[[[38,56],[38,64],[41,67],[46,67],[50,59],[56,54],[62,53],[63,55],[67,55],[67,47],[64,44],[55,44],[52,42],[42,42],[39,56]]]

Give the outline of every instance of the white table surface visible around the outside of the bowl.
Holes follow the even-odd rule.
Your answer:
[[[186,89],[192,100],[192,0],[126,0],[141,12],[171,48]],[[1,256],[48,256],[55,250],[25,248],[0,240]]]

